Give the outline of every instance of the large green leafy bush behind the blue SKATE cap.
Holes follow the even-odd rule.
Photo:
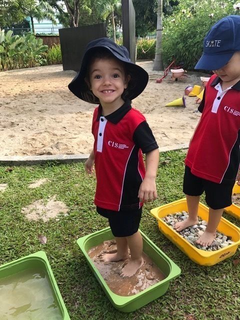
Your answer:
[[[202,54],[202,42],[210,27],[223,16],[238,14],[235,1],[181,0],[171,16],[163,19],[162,58],[193,69]]]

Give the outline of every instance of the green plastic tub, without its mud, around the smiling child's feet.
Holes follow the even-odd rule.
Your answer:
[[[141,232],[141,231],[140,231]],[[122,312],[134,311],[148,302],[158,298],[164,294],[169,286],[170,280],[174,279],[180,274],[180,268],[166,255],[164,254],[152,241],[150,241],[144,233],[141,232],[143,238],[143,251],[151,258],[151,260],[160,268],[160,270],[166,276],[162,281],[146,288],[145,290],[131,296],[120,296],[113,293],[105,280],[95,267],[94,263],[88,256],[88,250],[105,240],[113,238],[110,228],[105,228],[100,231],[91,233],[77,239],[81,251],[83,252],[87,263],[89,264],[94,276],[100,283],[106,296],[112,303],[112,305]]]

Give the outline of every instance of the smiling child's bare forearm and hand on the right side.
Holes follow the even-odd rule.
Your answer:
[[[146,173],[138,191],[138,197],[141,202],[153,201],[157,197],[155,180],[158,161],[158,148],[146,153]]]

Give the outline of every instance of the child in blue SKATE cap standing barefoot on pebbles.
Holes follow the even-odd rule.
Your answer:
[[[188,218],[176,231],[197,223],[199,196],[205,192],[208,224],[198,239],[199,248],[216,244],[216,228],[223,208],[231,204],[232,187],[240,185],[240,16],[217,21],[203,40],[196,69],[212,70],[198,110],[202,113],[185,158],[183,192]]]

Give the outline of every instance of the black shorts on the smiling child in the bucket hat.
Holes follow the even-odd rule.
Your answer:
[[[109,226],[114,236],[130,236],[137,232],[139,228],[142,207],[140,209],[126,211],[113,211],[96,207],[96,211],[100,215],[108,218]]]

